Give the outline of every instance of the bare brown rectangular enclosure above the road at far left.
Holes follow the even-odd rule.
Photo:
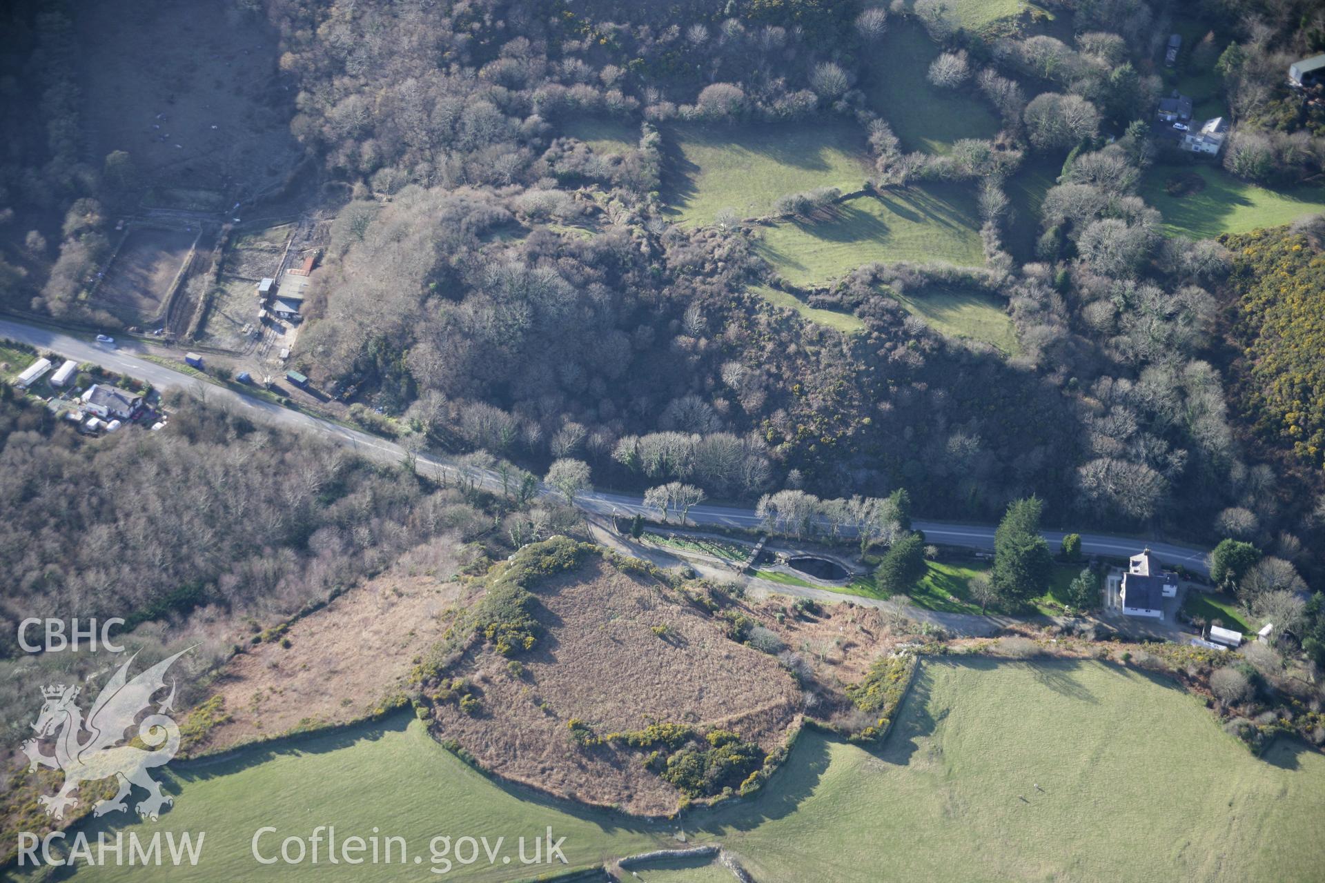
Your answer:
[[[200,236],[197,230],[130,228],[91,299],[130,326],[160,320]]]

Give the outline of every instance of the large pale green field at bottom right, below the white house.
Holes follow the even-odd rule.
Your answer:
[[[881,748],[807,732],[700,827],[761,883],[1289,883],[1320,879],[1322,818],[1325,756],[1252,757],[1167,678],[926,658]]]

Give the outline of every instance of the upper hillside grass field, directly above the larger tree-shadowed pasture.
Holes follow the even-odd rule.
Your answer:
[[[869,175],[865,134],[840,119],[776,126],[680,124],[664,131],[662,200],[672,220],[713,221],[722,209],[761,217],[787,193],[860,189]]]

